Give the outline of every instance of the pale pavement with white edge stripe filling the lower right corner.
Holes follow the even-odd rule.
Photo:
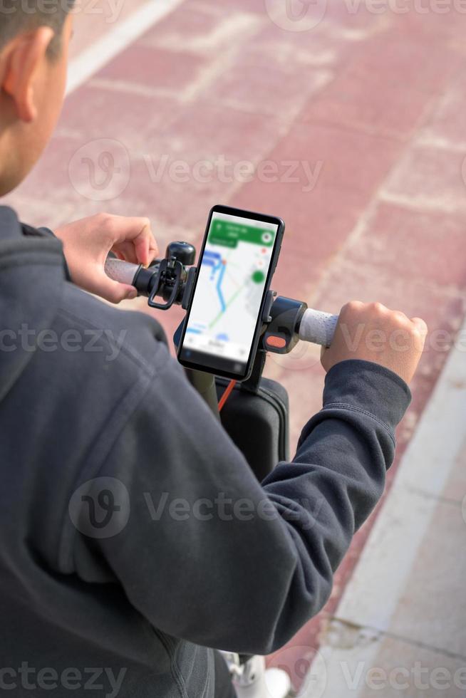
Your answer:
[[[466,695],[465,415],[463,345],[450,353],[321,634],[306,698]]]

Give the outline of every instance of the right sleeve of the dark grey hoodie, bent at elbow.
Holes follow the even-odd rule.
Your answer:
[[[180,396],[179,400],[175,396]],[[170,363],[100,474],[128,489],[124,530],[98,541],[130,602],[169,635],[267,654],[321,610],[351,538],[383,492],[395,425],[410,402],[397,375],[345,361],[296,457],[259,484]]]

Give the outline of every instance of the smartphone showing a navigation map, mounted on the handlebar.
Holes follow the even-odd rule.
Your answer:
[[[178,347],[183,366],[234,380],[251,375],[284,230],[273,216],[213,207]]]

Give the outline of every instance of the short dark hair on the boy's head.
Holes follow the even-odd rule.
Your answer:
[[[50,26],[55,36],[48,46],[54,58],[61,50],[61,32],[74,0],[0,0],[0,51],[23,31]]]

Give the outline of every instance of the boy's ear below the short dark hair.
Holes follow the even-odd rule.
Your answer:
[[[26,123],[36,119],[33,78],[41,63],[48,60],[46,51],[52,38],[53,29],[40,26],[17,36],[4,49],[0,88],[14,101],[18,118]]]

